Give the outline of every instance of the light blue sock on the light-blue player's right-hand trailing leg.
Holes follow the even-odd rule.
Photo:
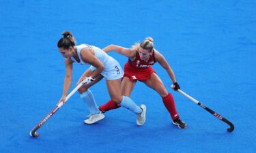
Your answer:
[[[141,107],[139,107],[138,105],[136,105],[136,103],[134,103],[132,101],[132,99],[130,99],[129,97],[123,96],[123,100],[121,101],[120,105],[122,107],[125,107],[127,109],[130,109],[132,112],[134,112],[135,114],[139,114],[142,112]]]

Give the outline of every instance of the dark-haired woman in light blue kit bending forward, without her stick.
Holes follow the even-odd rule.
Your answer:
[[[89,46],[87,44],[75,46],[76,40],[69,31],[65,31],[62,35],[63,37],[59,39],[57,46],[59,52],[65,58],[66,76],[62,97],[59,100],[59,103],[61,101],[63,103],[65,102],[66,95],[71,86],[73,63],[79,63],[81,65],[89,64],[91,67],[81,75],[81,78],[77,82],[77,84],[79,84],[82,80],[86,80],[85,84],[78,90],[81,99],[87,104],[90,112],[89,119],[85,120],[85,123],[93,124],[104,118],[104,114],[98,109],[94,95],[89,90],[89,87],[102,80],[102,78],[105,78],[111,99],[118,105],[126,107],[137,114],[138,125],[144,124],[146,112],[145,105],[139,107],[129,97],[122,96],[121,78],[124,75],[124,71],[119,63],[95,46]]]

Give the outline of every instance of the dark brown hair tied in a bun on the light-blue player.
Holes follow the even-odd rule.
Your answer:
[[[64,31],[62,35],[63,37],[59,39],[57,44],[58,48],[68,49],[70,46],[74,47],[76,44],[76,39],[74,39],[72,33],[70,33],[70,31]]]

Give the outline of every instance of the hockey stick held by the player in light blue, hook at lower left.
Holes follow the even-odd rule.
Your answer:
[[[76,88],[74,88],[72,90],[72,92],[70,92],[70,94],[68,94],[68,96],[66,97],[65,101],[68,101],[68,99],[70,99],[70,97],[72,95],[74,95],[74,92],[76,92],[76,90],[79,90],[79,88],[81,86],[83,86],[83,84],[85,84],[86,80],[83,80],[79,85],[76,86]],[[38,129],[40,129],[40,127],[49,119],[51,118],[51,116],[53,116],[53,114],[55,114],[55,112],[57,112],[57,110],[62,107],[64,105],[63,101],[61,101],[61,103],[59,103],[43,120],[41,120],[41,122],[39,122],[33,129],[32,131],[30,131],[30,135],[32,137],[38,137],[39,133],[35,132]]]

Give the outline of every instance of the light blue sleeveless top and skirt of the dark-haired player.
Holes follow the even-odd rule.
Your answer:
[[[98,60],[104,65],[104,69],[100,74],[103,75],[104,78],[106,78],[106,80],[117,80],[117,79],[122,78],[122,76],[124,75],[124,71],[123,71],[122,67],[119,65],[119,63],[113,57],[106,54],[106,52],[104,52],[100,48],[98,48],[96,46],[90,46],[87,44],[81,44],[81,45],[75,46],[75,47],[77,48],[77,54],[79,55],[79,60],[80,60],[79,64],[81,64],[81,65],[87,64],[81,58],[81,50],[83,48],[91,48],[94,50],[94,54],[95,54],[96,58],[98,58]],[[83,52],[85,52],[85,50],[83,50]],[[71,57],[71,60],[75,63],[78,63],[74,59],[74,57]],[[96,67],[91,65],[90,69],[91,69],[91,71],[94,71],[96,69]]]

